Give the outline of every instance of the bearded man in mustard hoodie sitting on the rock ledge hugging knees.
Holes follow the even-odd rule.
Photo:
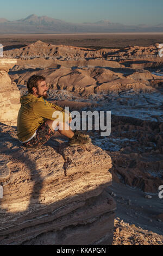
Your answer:
[[[69,113],[45,100],[48,97],[45,77],[31,76],[27,88],[28,94],[21,96],[21,108],[17,117],[17,137],[25,147],[33,148],[46,143],[56,129],[69,138],[71,146],[91,142],[88,135],[71,130],[69,124],[72,119]]]

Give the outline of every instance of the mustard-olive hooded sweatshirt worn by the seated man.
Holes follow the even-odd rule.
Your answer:
[[[17,117],[17,137],[21,142],[26,142],[32,137],[45,119],[55,120],[56,117],[52,117],[55,111],[61,111],[63,114],[62,121],[65,121],[64,109],[44,100],[42,96],[36,97],[33,94],[27,94],[21,96],[20,102],[21,108]]]

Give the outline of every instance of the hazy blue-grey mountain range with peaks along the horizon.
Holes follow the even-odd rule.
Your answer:
[[[32,14],[25,19],[8,21],[0,18],[0,33],[123,33],[123,32],[163,32],[163,23],[156,26],[140,24],[127,26],[101,20],[94,23],[72,23],[47,16]]]

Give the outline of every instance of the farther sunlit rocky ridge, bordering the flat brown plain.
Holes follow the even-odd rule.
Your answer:
[[[45,58],[55,60],[162,60],[162,56],[159,56],[160,48],[159,44],[155,44],[149,47],[141,46],[127,46],[123,49],[89,49],[74,46],[65,45],[52,45],[46,44],[42,41],[34,42],[31,45],[27,45],[14,50],[4,52],[4,56],[16,57],[21,59],[32,58]]]

